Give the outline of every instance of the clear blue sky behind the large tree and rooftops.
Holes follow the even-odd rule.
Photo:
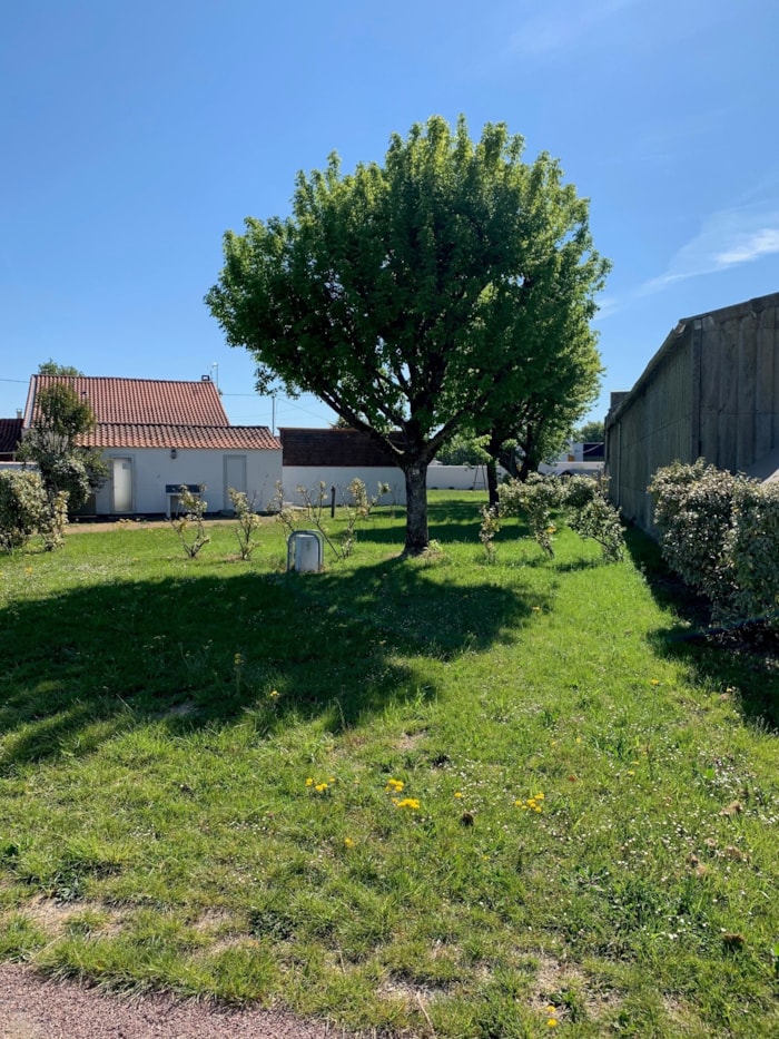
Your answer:
[[[203,303],[221,236],[298,169],[382,160],[433,114],[505,121],[591,199],[609,392],[678,320],[779,291],[776,0],[26,0],[0,35],[0,415],[49,357],[218,379],[272,422]],[[215,366],[216,365],[216,366]],[[316,400],[277,425],[325,425]]]

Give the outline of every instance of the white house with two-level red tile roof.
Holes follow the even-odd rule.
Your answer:
[[[282,444],[265,425],[230,425],[219,391],[198,382],[33,375],[23,429],[37,416],[41,390],[65,383],[87,401],[97,420],[82,437],[109,465],[108,480],[83,513],[169,514],[185,484],[205,484],[208,512],[231,511],[228,488],[267,508],[282,480]]]

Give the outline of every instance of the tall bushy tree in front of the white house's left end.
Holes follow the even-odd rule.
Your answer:
[[[32,425],[17,457],[36,463],[52,510],[60,494],[67,493],[68,510],[75,512],[108,472],[99,451],[77,443],[95,427],[95,415],[67,382],[45,386],[36,405]]]

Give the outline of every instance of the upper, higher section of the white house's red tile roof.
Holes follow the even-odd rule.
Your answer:
[[[93,375],[33,375],[26,422],[37,393],[57,383],[72,386],[89,402],[98,422],[167,425],[229,425],[221,398],[210,379],[183,382],[157,379],[114,379]]]

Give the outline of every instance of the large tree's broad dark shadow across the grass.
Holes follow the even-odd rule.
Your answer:
[[[389,560],[220,578],[193,568],[12,605],[0,774],[89,753],[139,721],[190,732],[267,708],[269,726],[289,715],[349,726],[392,702],[434,695],[415,659],[486,650],[544,605],[489,578],[462,585],[432,569]]]

